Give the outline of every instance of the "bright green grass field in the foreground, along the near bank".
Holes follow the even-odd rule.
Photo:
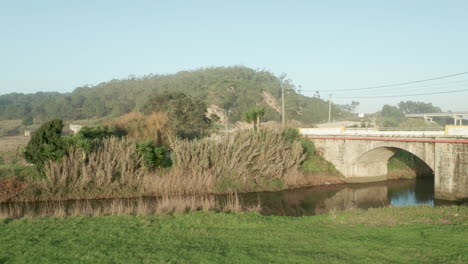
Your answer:
[[[0,220],[0,263],[467,263],[468,208]]]

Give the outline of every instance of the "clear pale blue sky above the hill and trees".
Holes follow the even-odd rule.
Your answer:
[[[468,111],[468,1],[0,0],[0,94],[71,92],[129,75],[244,65],[304,95],[375,112],[403,100]],[[363,98],[389,95],[385,98]],[[340,98],[347,97],[347,98]],[[286,99],[287,100],[287,99]]]

